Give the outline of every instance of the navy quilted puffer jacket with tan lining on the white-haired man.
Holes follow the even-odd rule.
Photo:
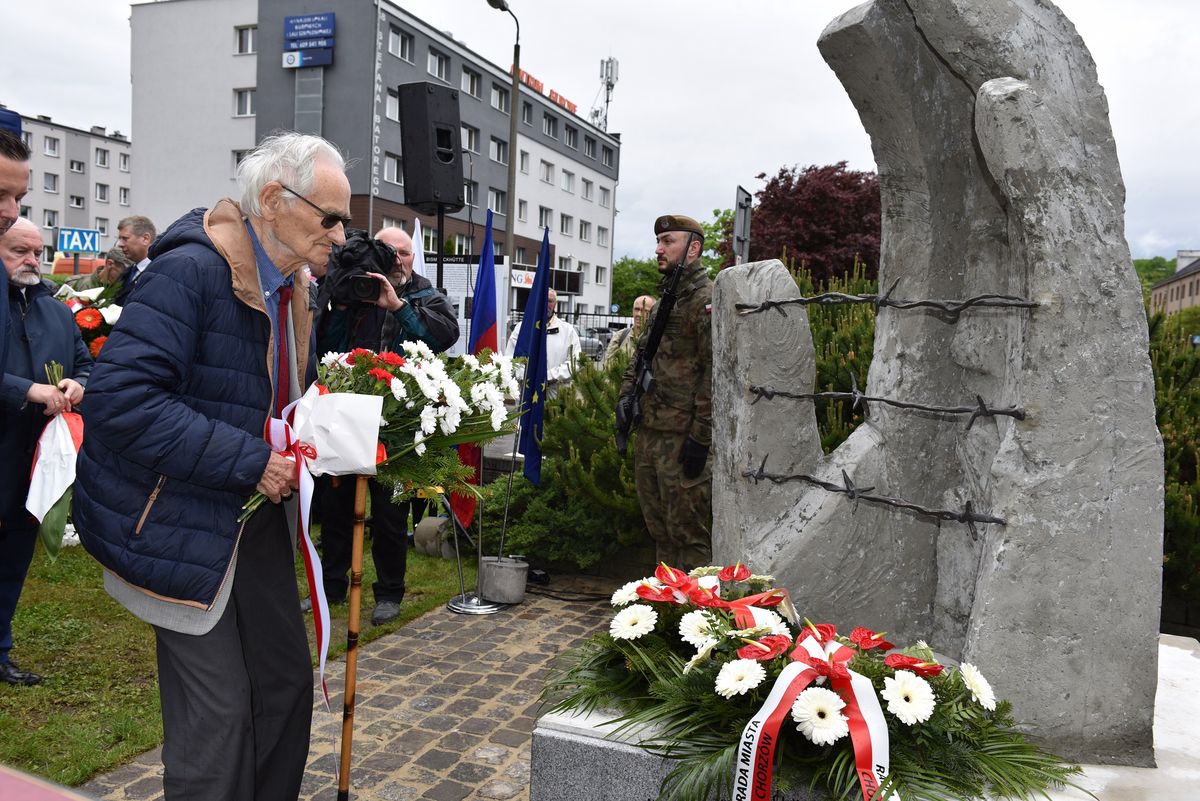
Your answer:
[[[150,255],[88,384],[74,522],[126,583],[208,607],[270,456],[275,343],[232,200],[176,221]],[[293,365],[307,367],[307,279],[295,281]]]

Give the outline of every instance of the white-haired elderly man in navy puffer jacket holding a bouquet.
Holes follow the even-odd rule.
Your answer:
[[[154,626],[168,801],[300,790],[312,668],[295,468],[263,432],[311,363],[302,267],[320,272],[346,239],[344,169],[319,137],[264,139],[238,167],[240,203],[155,242],[88,385],[74,522],[108,592]],[[271,502],[240,524],[256,488]]]

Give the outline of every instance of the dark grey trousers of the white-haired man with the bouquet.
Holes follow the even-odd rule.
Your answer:
[[[155,627],[167,801],[295,801],[313,680],[287,520],[246,523],[233,594],[205,634]]]

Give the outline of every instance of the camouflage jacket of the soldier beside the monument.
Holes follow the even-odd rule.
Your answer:
[[[667,277],[659,290],[665,289]],[[713,282],[700,261],[688,265],[659,351],[650,363],[654,389],[642,397],[642,428],[688,432],[701,445],[713,440]],[[637,348],[644,348],[660,305],[650,311]],[[622,395],[634,386],[630,363]]]

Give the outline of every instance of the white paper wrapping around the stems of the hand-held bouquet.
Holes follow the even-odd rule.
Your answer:
[[[293,418],[301,442],[317,451],[308,459],[314,476],[376,475],[376,452],[383,398],[377,395],[332,392],[310,386]]]

